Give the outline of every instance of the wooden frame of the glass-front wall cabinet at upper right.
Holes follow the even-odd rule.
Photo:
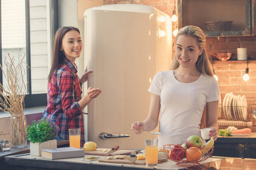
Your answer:
[[[245,30],[241,31],[213,31],[204,32],[207,37],[220,37],[220,36],[250,36],[256,34],[256,0],[244,0],[246,4],[246,22]],[[183,0],[177,0],[178,8],[178,28],[182,28],[183,25]]]

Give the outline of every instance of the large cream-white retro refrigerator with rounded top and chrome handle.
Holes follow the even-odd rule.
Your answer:
[[[143,148],[144,138],[157,136],[136,135],[129,122],[147,117],[151,81],[170,67],[170,16],[151,6],[122,4],[89,8],[84,19],[85,65],[94,70],[88,87],[102,90],[88,105],[87,141],[101,148]]]

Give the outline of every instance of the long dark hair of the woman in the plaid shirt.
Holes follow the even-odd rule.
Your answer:
[[[67,32],[72,30],[77,31],[80,34],[79,29],[75,27],[61,27],[56,32],[53,45],[52,67],[48,75],[48,82],[51,82],[53,71],[57,70],[59,66],[64,62],[65,55],[63,53],[63,50],[60,50],[62,45],[62,39]]]

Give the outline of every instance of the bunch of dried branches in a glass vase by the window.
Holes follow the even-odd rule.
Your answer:
[[[23,53],[24,54],[24,53]],[[18,61],[15,61],[14,57],[5,57],[6,71],[2,69],[3,76],[6,79],[7,85],[4,87],[0,83],[0,110],[3,112],[9,112],[11,114],[10,119],[10,135],[11,144],[13,146],[26,145],[26,118],[23,114],[24,111],[24,97],[26,96],[27,82],[24,82],[24,76],[26,74],[27,66],[23,62],[25,54],[18,56]]]

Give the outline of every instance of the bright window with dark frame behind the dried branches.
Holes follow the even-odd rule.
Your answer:
[[[51,69],[54,33],[58,28],[57,0],[0,0],[0,62],[7,53],[26,55],[25,108],[47,105],[47,77]],[[0,70],[0,82],[7,87]]]

